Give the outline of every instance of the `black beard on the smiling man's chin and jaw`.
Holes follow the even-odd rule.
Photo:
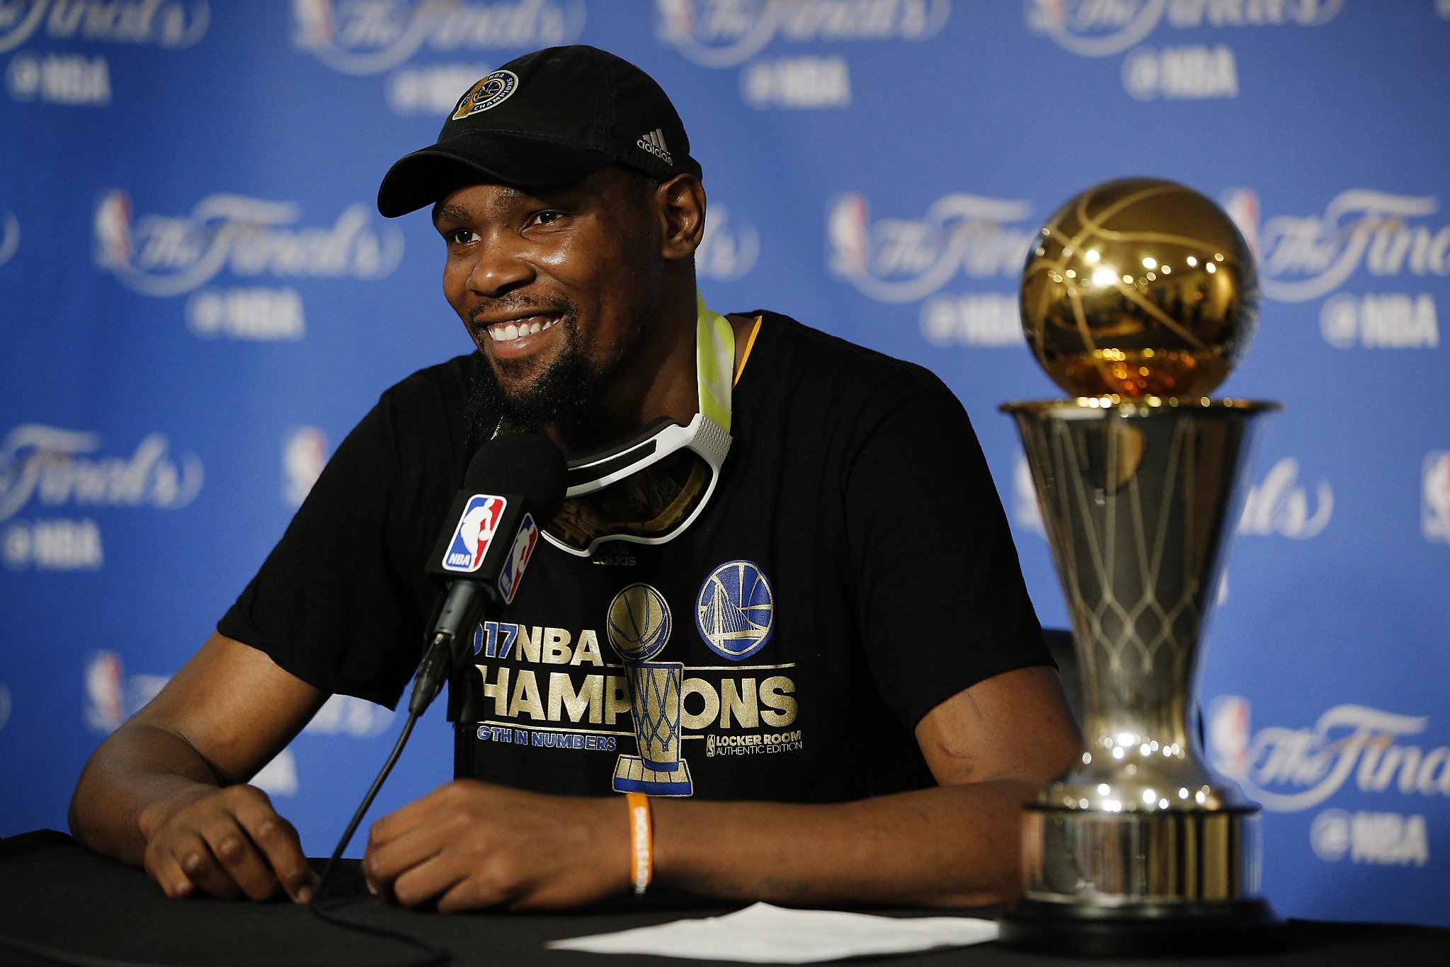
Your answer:
[[[580,345],[579,313],[571,304],[560,309],[563,315],[555,326],[563,329],[564,346],[558,358],[532,380],[518,378],[529,361],[499,361],[489,358],[481,348],[474,351],[468,426],[476,439],[492,438],[499,423],[536,433],[545,426],[579,422],[587,413],[596,391],[619,370],[644,333],[644,326],[635,320],[625,345],[609,360],[592,364]],[[513,389],[505,389],[500,375]]]

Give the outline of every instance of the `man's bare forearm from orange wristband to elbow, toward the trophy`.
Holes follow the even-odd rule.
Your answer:
[[[655,799],[655,877],[729,899],[982,906],[1021,883],[1038,786],[999,780],[841,805]]]

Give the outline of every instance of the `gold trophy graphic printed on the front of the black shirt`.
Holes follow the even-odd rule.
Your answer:
[[[609,603],[609,644],[625,663],[638,755],[621,755],[613,789],[619,793],[689,796],[690,768],[680,755],[684,665],[650,661],[670,641],[670,605],[650,584],[631,584]]]

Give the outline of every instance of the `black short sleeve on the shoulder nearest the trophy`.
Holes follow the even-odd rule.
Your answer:
[[[940,380],[915,378],[845,480],[867,660],[909,728],[979,681],[1051,664],[972,423]]]

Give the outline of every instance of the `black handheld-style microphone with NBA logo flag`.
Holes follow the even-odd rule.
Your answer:
[[[478,448],[454,497],[428,573],[448,581],[413,678],[410,715],[422,715],[457,664],[484,609],[518,594],[539,529],[564,505],[564,455],[548,439],[506,435]]]

